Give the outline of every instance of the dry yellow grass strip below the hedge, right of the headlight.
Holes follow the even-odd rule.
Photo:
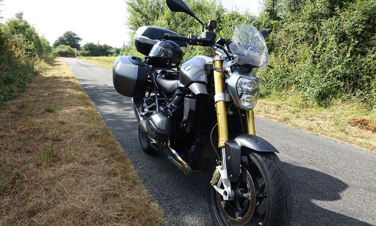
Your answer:
[[[306,104],[294,93],[268,96],[259,100],[255,114],[376,151],[376,109],[367,109],[356,98],[322,108]]]

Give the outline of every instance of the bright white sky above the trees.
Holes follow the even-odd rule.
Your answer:
[[[51,45],[66,31],[76,32],[82,38],[81,45],[99,41],[121,47],[129,39],[124,0],[3,0],[0,4],[2,23],[23,11],[23,18]],[[222,4],[259,14],[259,0],[222,0]]]

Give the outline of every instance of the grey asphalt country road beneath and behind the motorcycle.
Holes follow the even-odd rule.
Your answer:
[[[111,70],[64,58],[171,225],[212,225],[207,176],[186,176],[165,153],[139,147],[130,98],[118,94]],[[280,153],[293,190],[291,226],[376,226],[376,153],[256,117],[256,134]]]

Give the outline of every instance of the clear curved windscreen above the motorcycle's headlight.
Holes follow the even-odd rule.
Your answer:
[[[250,24],[235,26],[235,32],[230,44],[230,50],[240,65],[268,67],[268,49],[261,33]]]

